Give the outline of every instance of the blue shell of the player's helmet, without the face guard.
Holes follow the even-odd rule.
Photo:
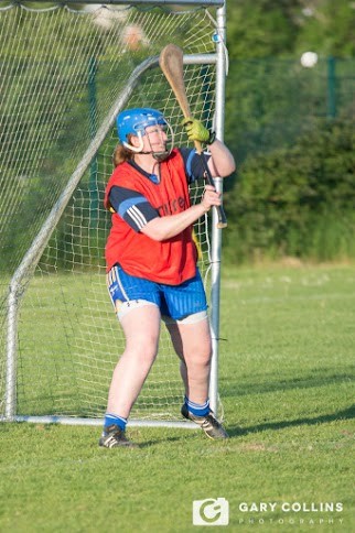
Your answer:
[[[144,134],[148,126],[168,126],[163,113],[157,109],[133,108],[121,111],[116,119],[117,133],[120,142],[127,143],[128,135],[137,135],[139,132]]]

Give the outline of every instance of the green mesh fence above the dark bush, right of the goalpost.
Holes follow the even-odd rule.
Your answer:
[[[354,62],[234,59],[226,90],[225,139],[240,164],[251,153],[292,146],[319,118],[354,117]],[[229,187],[229,184],[227,184]]]

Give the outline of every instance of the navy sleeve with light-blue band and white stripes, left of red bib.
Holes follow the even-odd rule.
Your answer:
[[[137,191],[115,185],[109,193],[109,202],[135,231],[140,231],[146,224],[159,217],[158,210]]]

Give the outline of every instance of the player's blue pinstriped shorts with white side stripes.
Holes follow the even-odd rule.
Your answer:
[[[115,265],[107,274],[108,291],[115,309],[129,302],[150,302],[160,308],[161,315],[180,320],[207,309],[206,294],[197,270],[195,278],[181,285],[164,285],[127,274]]]

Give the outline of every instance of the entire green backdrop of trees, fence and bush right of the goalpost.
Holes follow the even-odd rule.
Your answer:
[[[355,257],[354,4],[228,2],[224,253],[238,263]],[[316,53],[312,68],[302,53]]]

